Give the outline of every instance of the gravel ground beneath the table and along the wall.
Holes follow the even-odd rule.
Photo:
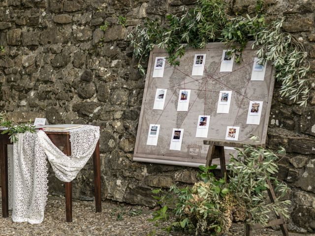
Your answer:
[[[1,209],[2,210],[2,209]],[[14,223],[10,216],[0,218],[0,236],[164,236],[161,226],[148,222],[153,210],[143,206],[133,206],[113,201],[102,202],[102,212],[95,213],[94,202],[73,202],[73,222],[65,222],[64,198],[48,197],[45,219],[41,224]],[[0,211],[1,212],[1,211]],[[152,234],[155,231],[156,234]],[[233,224],[229,236],[244,236],[244,225]],[[281,236],[281,232],[271,229],[254,231],[253,236]],[[314,234],[312,234],[314,236]],[[171,233],[171,236],[189,236]],[[290,234],[290,236],[302,236]],[[304,235],[305,236],[305,235]],[[310,236],[310,235],[309,235]]]

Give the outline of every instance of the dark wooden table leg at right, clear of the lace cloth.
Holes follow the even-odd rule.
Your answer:
[[[100,158],[99,158],[99,141],[97,141],[93,153],[94,166],[94,189],[95,189],[95,209],[96,212],[102,211],[101,192],[100,192]]]

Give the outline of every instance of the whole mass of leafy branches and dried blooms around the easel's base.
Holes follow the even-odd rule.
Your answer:
[[[279,170],[277,155],[261,147],[244,146],[244,150],[238,150],[237,157],[232,157],[228,165],[228,183],[224,178],[217,180],[211,173],[217,166],[200,166],[202,181],[192,188],[180,189],[174,185],[168,191],[153,190],[158,194],[154,198],[161,208],[153,213],[151,221],[171,220],[164,228],[167,232],[182,229],[196,235],[221,235],[228,232],[232,215],[236,221],[247,219],[251,225],[266,225],[272,211],[288,218],[286,205],[291,202],[280,200],[287,187],[273,176]],[[283,152],[282,149],[279,153]],[[278,196],[275,203],[266,201],[269,180]]]

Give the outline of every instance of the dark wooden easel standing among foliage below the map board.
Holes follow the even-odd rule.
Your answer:
[[[221,140],[204,140],[203,144],[209,145],[208,153],[207,153],[207,161],[206,166],[210,166],[213,159],[220,159],[221,166],[221,176],[226,178],[226,167],[225,167],[225,154],[224,154],[224,146],[225,147],[234,147],[234,148],[243,148],[244,143],[241,142],[230,142],[230,141],[221,141]],[[252,144],[251,144],[252,145]],[[252,145],[253,147],[257,147],[257,145]],[[261,147],[265,147],[265,145],[260,145]],[[267,179],[267,184],[269,188],[267,189],[270,201],[272,203],[276,200],[276,195],[273,189],[273,186],[270,180]],[[287,231],[286,223],[284,217],[281,214],[276,214],[277,219],[271,220],[268,222],[266,226],[262,226],[260,224],[248,225],[246,224],[246,236],[252,236],[252,230],[267,228],[271,226],[279,225],[284,236],[289,236]],[[250,216],[251,218],[251,216]]]

